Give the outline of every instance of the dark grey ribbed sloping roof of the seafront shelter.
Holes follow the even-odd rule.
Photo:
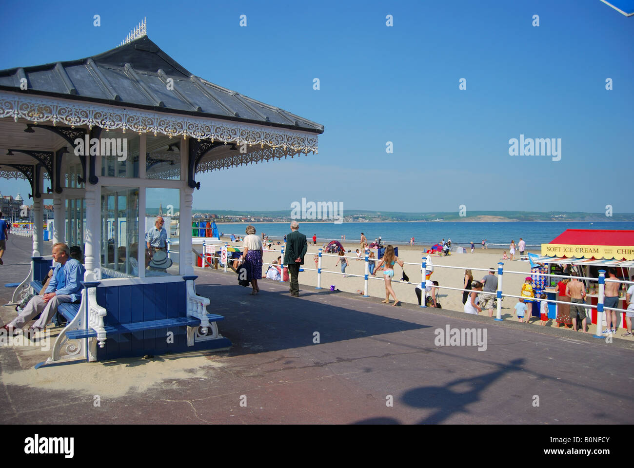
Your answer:
[[[159,112],[215,117],[313,133],[323,125],[302,119],[192,75],[143,36],[81,60],[0,70],[0,89]],[[168,90],[169,79],[174,89]]]

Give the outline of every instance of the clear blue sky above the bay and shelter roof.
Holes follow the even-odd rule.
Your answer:
[[[194,209],[290,210],[306,197],[344,210],[634,212],[634,16],[599,0],[2,10],[0,68],[96,55],[146,16],[148,37],[193,74],[325,126],[318,155],[199,174]],[[509,155],[520,134],[560,138],[561,159]],[[18,191],[29,185],[0,181],[4,195]]]

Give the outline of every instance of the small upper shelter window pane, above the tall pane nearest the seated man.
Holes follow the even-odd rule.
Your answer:
[[[103,131],[100,145],[102,176],[139,176],[139,135],[115,130]],[[126,159],[123,159],[124,156]]]

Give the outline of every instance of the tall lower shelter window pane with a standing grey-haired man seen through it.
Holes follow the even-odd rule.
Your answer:
[[[180,191],[146,188],[145,276],[178,275]]]

